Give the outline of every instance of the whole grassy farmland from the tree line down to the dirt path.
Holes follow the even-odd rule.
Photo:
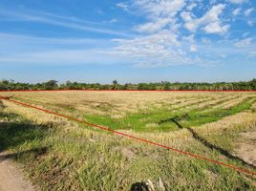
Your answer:
[[[249,171],[256,93],[9,92],[1,96]],[[42,189],[254,190],[255,176],[3,100],[0,150]],[[154,187],[154,189],[153,189]]]

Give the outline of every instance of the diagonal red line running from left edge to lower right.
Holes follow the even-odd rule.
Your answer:
[[[14,99],[10,99],[9,97],[6,97],[6,96],[0,96],[0,99],[5,99],[5,100],[11,101],[13,103],[16,103],[18,105],[22,105],[22,106],[29,107],[29,108],[32,108],[32,109],[35,109],[35,110],[39,110],[41,112],[45,112],[45,113],[48,113],[48,114],[51,114],[51,115],[54,115],[54,116],[57,116],[57,117],[64,117],[64,118],[67,118],[67,119],[70,119],[70,120],[74,120],[76,122],[86,124],[86,125],[90,125],[92,127],[96,127],[98,129],[101,129],[101,130],[104,130],[104,131],[107,131],[107,132],[111,132],[111,133],[117,134],[117,135],[125,137],[125,138],[132,138],[132,139],[138,140],[140,142],[146,142],[148,144],[152,144],[152,145],[162,147],[162,148],[165,148],[165,149],[168,149],[168,150],[171,150],[171,151],[175,151],[177,153],[180,153],[180,154],[183,154],[183,155],[186,155],[186,156],[190,156],[192,158],[203,159],[205,161],[209,161],[209,162],[212,162],[212,163],[216,163],[216,164],[228,167],[228,168],[236,170],[238,172],[243,172],[245,174],[250,174],[250,175],[256,176],[256,172],[246,170],[245,168],[240,168],[240,167],[237,167],[237,166],[234,166],[234,165],[226,164],[224,162],[221,162],[221,161],[218,161],[218,160],[215,160],[215,159],[204,158],[203,156],[200,156],[200,155],[196,155],[196,154],[193,154],[193,153],[188,153],[188,152],[185,152],[185,151],[181,151],[179,149],[176,149],[176,148],[173,148],[173,147],[170,147],[170,146],[167,146],[167,145],[163,145],[163,144],[160,144],[158,142],[154,142],[154,141],[151,141],[151,140],[148,140],[148,139],[145,139],[145,138],[138,138],[138,137],[135,137],[135,136],[131,136],[131,135],[128,135],[128,134],[125,134],[125,133],[122,133],[122,132],[118,132],[118,131],[115,131],[115,130],[112,130],[112,129],[109,129],[107,127],[103,127],[103,126],[100,126],[100,125],[96,125],[96,124],[93,124],[91,122],[86,122],[84,120],[80,120],[80,119],[77,119],[77,118],[74,118],[74,117],[68,117],[68,116],[64,116],[64,115],[61,115],[61,114],[57,114],[57,113],[52,112],[50,110],[45,110],[45,109],[42,109],[42,108],[38,108],[38,107],[35,107],[35,106],[32,106],[32,105],[29,105],[27,103],[23,103],[23,102],[20,102],[20,101],[16,101]]]

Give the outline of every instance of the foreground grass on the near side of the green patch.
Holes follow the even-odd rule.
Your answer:
[[[5,105],[0,113],[0,150],[23,163],[43,190],[135,190],[147,180],[160,190],[159,179],[166,190],[256,189],[255,178],[220,165]],[[171,134],[127,133],[255,171],[242,159],[230,159],[218,150],[231,155],[240,133],[256,131],[255,114],[238,114],[193,130],[216,148],[193,138],[187,129]]]

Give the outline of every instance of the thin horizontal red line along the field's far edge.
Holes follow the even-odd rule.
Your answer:
[[[0,90],[0,93],[11,92],[239,92],[256,93],[256,90]]]

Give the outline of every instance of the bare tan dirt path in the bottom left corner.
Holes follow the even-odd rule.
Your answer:
[[[21,168],[7,153],[0,153],[0,191],[35,191],[34,186],[24,179]]]

